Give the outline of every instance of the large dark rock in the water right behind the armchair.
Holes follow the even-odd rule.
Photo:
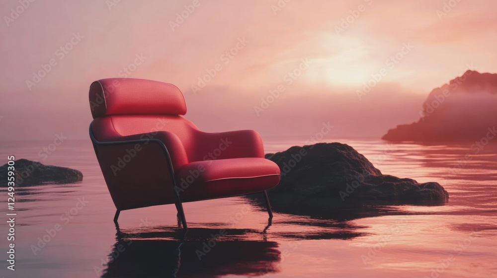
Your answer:
[[[281,182],[267,191],[276,211],[326,213],[363,205],[436,205],[449,195],[436,182],[383,175],[362,154],[341,143],[293,146],[270,156],[281,169]],[[260,194],[251,195],[260,201]]]

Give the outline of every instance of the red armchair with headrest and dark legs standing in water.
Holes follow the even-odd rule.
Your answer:
[[[134,78],[107,78],[89,89],[89,134],[116,206],[121,210],[175,204],[187,228],[182,202],[261,192],[280,180],[264,159],[251,130],[205,133],[181,117],[186,103],[174,85]]]

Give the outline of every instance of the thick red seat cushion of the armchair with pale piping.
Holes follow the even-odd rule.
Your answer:
[[[175,169],[181,202],[261,192],[279,183],[280,169],[265,158],[229,158],[188,163]]]

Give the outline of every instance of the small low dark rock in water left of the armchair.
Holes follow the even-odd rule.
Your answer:
[[[31,186],[41,184],[67,184],[81,182],[83,173],[78,170],[47,166],[36,161],[18,159],[13,165],[15,170],[16,186]],[[0,167],[0,186],[7,186],[7,172],[9,165]]]

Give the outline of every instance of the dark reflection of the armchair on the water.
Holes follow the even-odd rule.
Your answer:
[[[190,228],[186,233],[168,227],[120,230],[102,278],[261,276],[279,272],[281,253],[264,232],[249,229]],[[262,235],[261,235],[262,233]],[[210,244],[210,245],[209,245]],[[207,247],[206,247],[207,246]]]

